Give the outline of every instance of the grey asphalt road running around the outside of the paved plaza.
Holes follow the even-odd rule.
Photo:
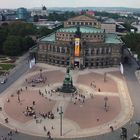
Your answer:
[[[130,96],[134,105],[134,116],[130,122],[128,122],[124,127],[128,130],[128,140],[133,136],[133,134],[137,133],[137,125],[135,124],[136,121],[140,121],[140,85],[135,77],[135,71],[138,67],[136,61],[130,56],[131,64],[124,65],[124,77],[127,81],[128,89],[130,92]],[[22,64],[16,68],[15,72],[10,75],[8,82],[3,85],[2,89],[0,87],[1,92],[7,88],[12,82],[20,77],[21,74],[26,72],[28,69],[27,65],[27,58],[23,60]],[[0,136],[7,136],[9,132],[8,128],[4,126],[0,126]],[[103,134],[100,136],[95,137],[88,137],[88,138],[77,138],[77,139],[68,139],[68,140],[120,140],[120,129],[110,132],[107,134]],[[12,137],[14,140],[46,140],[47,138],[36,137],[36,136],[29,136],[26,134],[15,134]],[[57,139],[60,140],[60,139]],[[62,140],[62,139],[61,139]]]

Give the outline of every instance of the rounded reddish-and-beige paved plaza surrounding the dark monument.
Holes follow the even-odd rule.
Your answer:
[[[78,138],[111,132],[132,118],[133,105],[118,68],[71,70],[75,94],[57,91],[65,72],[37,64],[25,73],[0,95],[0,123],[29,135]]]

